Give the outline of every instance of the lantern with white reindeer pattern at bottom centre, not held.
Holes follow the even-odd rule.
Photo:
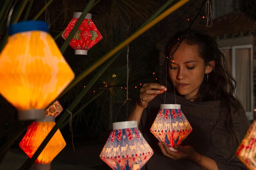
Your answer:
[[[137,121],[115,122],[100,158],[113,170],[140,170],[153,155]]]

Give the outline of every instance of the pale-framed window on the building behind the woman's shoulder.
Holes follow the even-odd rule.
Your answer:
[[[242,102],[248,120],[253,120],[252,45],[227,47],[224,51],[236,79],[236,96]]]

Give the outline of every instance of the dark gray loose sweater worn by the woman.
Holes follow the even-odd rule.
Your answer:
[[[221,121],[213,129],[220,118],[220,101],[191,102],[176,95],[176,103],[181,105],[181,110],[193,128],[193,131],[181,143],[181,146],[193,146],[198,153],[214,159],[219,170],[246,169],[235,155],[236,142],[230,141],[229,134],[224,128],[224,122]],[[159,111],[160,104],[164,104],[164,93],[148,103],[148,107],[144,109],[141,117],[140,131],[154,150],[154,155],[142,169],[199,170],[200,167],[189,159],[173,160],[162,155],[157,144],[158,139],[150,132],[150,127]],[[166,94],[165,104],[175,104],[174,94]],[[245,111],[243,110],[242,114],[235,116],[233,122],[241,142],[249,128]],[[232,159],[229,160],[229,158]]]

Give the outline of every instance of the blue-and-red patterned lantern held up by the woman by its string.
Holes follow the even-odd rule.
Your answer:
[[[160,142],[165,142],[170,150],[177,151],[173,146],[180,145],[192,131],[192,127],[180,105],[164,104],[160,105],[150,131]]]

